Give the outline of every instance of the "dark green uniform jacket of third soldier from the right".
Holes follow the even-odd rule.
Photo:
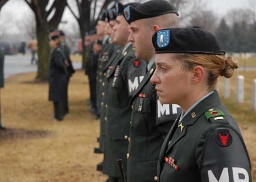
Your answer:
[[[108,107],[106,108],[105,149],[103,172],[109,176],[121,176],[117,159],[122,159],[126,173],[126,154],[130,130],[131,107],[127,83],[127,68],[135,58],[130,45],[121,56],[115,58],[106,72],[108,78]]]

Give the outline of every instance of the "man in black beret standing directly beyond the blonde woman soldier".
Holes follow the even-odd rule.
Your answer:
[[[162,105],[150,77],[155,70],[152,35],[159,29],[177,26],[177,12],[170,3],[152,0],[137,7],[126,7],[130,23],[129,41],[135,56],[148,61],[147,73],[131,98],[131,127],[127,153],[127,181],[155,181],[159,151],[164,137],[180,114],[178,105]]]

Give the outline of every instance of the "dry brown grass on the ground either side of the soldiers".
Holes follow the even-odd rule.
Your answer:
[[[236,77],[245,76],[245,103],[236,103]],[[0,181],[2,182],[100,182],[105,175],[96,171],[102,154],[98,147],[99,121],[88,112],[88,80],[76,71],[69,85],[70,113],[63,122],[53,122],[53,104],[48,84],[35,83],[35,73],[8,78],[1,90]],[[231,79],[232,98],[223,100],[238,121],[249,150],[256,181],[256,111],[251,111],[251,82],[255,71],[236,73]],[[218,86],[222,95],[222,78]]]

